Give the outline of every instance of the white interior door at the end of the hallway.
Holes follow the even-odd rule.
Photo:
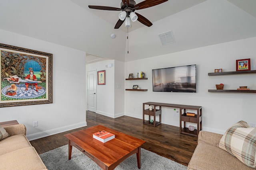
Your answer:
[[[88,80],[88,111],[96,112],[96,70],[87,72]]]

